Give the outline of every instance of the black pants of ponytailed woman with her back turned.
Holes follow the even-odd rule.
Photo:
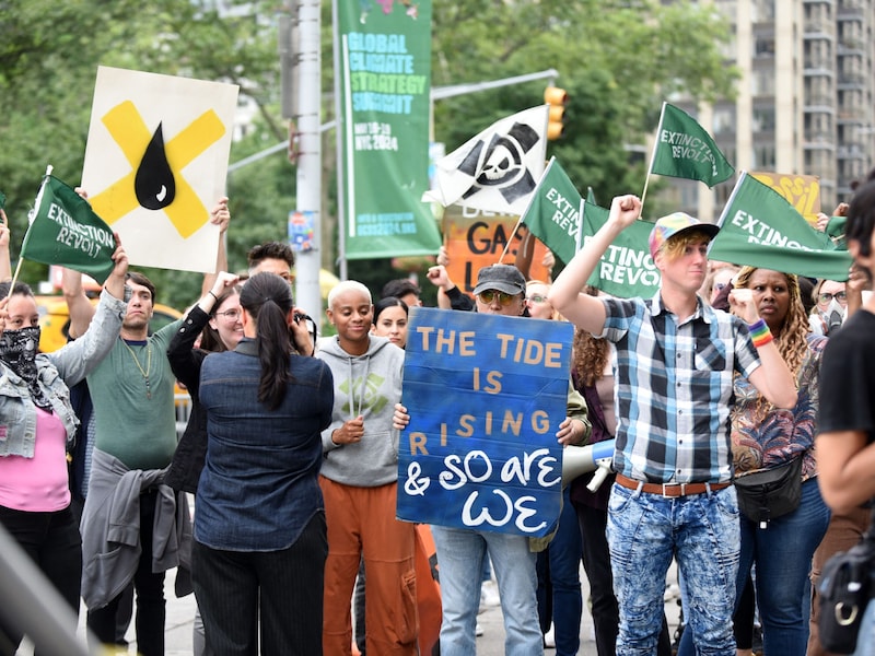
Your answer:
[[[327,557],[324,512],[279,551],[225,551],[196,540],[191,575],[207,649],[257,656],[260,633],[262,656],[322,654]]]

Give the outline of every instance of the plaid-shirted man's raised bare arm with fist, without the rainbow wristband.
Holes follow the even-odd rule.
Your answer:
[[[587,332],[602,332],[605,327],[605,306],[595,296],[582,293],[582,290],[614,239],[632,225],[640,214],[641,199],[637,196],[615,197],[605,225],[578,251],[550,286],[547,294],[550,304]]]

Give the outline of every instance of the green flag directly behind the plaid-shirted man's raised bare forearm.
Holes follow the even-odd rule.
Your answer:
[[[609,211],[590,202],[581,203],[583,214],[583,243],[605,225]],[[650,256],[648,237],[653,224],[635,221],[611,243],[598,268],[586,281],[603,292],[618,298],[643,296],[649,298],[660,289],[660,271]]]

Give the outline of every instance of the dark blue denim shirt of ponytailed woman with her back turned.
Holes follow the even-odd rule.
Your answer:
[[[291,547],[323,509],[320,431],[331,421],[334,380],[315,358],[290,356],[285,397],[276,410],[258,401],[255,342],[203,360],[207,461],[200,476],[195,539],[212,549]]]

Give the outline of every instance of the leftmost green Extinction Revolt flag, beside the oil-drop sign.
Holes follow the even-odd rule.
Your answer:
[[[115,267],[113,231],[89,202],[47,175],[36,197],[21,257],[88,273],[103,284]]]

